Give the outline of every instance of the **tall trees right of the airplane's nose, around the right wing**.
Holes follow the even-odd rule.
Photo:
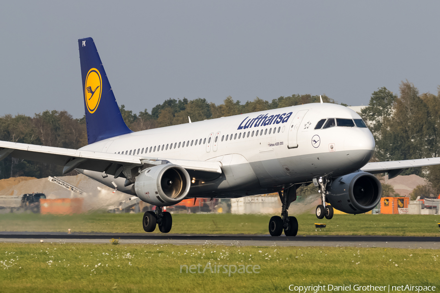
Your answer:
[[[440,87],[437,95],[418,92],[404,81],[399,95],[382,87],[373,92],[361,111],[376,141],[373,161],[398,161],[440,155]],[[416,174],[428,180],[412,193],[436,196],[440,193],[440,166],[411,168],[402,175]],[[392,193],[392,191],[390,191]],[[394,193],[395,194],[395,193]],[[395,194],[396,195],[396,194]]]

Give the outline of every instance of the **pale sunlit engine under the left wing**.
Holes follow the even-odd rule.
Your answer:
[[[154,206],[172,206],[182,201],[191,187],[191,178],[184,168],[164,164],[143,170],[134,183],[140,200]]]

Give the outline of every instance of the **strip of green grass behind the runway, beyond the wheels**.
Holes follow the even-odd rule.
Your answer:
[[[142,214],[92,213],[77,215],[0,214],[0,231],[143,233]],[[438,215],[334,215],[318,220],[297,216],[299,235],[440,236]],[[234,214],[174,214],[171,233],[268,234],[270,216]],[[314,223],[326,223],[316,229]],[[159,233],[158,229],[154,231]]]

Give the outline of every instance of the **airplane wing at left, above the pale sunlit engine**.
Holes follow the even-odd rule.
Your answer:
[[[176,164],[184,167],[190,174],[198,178],[211,178],[221,174],[220,162],[178,160],[166,158],[143,157],[139,155],[123,155],[81,149],[69,149],[53,146],[37,146],[21,143],[0,141],[0,161],[11,156],[23,160],[64,166],[63,174],[75,168],[105,172],[118,177],[123,169]]]

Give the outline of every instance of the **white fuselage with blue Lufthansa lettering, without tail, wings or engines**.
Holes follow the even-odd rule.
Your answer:
[[[326,118],[361,119],[347,107],[316,103],[133,132],[82,149],[219,161],[220,177],[196,181],[189,196],[239,197],[278,191],[318,176],[334,178],[363,167],[374,152],[370,130],[357,126],[315,129]],[[109,187],[117,181],[118,190],[130,193],[129,187],[123,187],[123,178],[80,171]]]

